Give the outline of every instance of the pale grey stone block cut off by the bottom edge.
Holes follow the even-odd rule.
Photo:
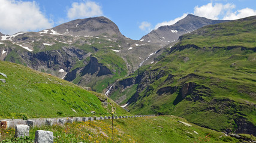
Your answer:
[[[35,132],[35,142],[36,143],[44,143],[44,142],[53,143],[53,132],[46,131],[46,130],[37,130]]]

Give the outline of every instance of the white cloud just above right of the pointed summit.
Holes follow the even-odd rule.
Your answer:
[[[219,15],[230,13],[230,11],[235,7],[236,6],[234,4],[228,3],[223,5],[216,3],[213,5],[212,2],[210,2],[209,4],[203,5],[201,7],[198,7],[197,5],[194,8],[194,15],[217,20],[219,19]]]

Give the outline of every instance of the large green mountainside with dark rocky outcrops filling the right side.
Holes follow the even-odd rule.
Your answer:
[[[125,90],[137,91],[128,109],[135,114],[174,114],[219,131],[253,133],[255,23],[256,17],[249,17],[182,36],[161,60],[129,76],[141,82]],[[119,91],[114,95],[122,94]]]

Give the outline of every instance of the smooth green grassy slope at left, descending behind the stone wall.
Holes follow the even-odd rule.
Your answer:
[[[0,119],[90,116],[91,111],[110,114],[112,108],[118,114],[127,114],[104,95],[86,91],[50,74],[5,61],[0,61],[0,72],[7,74],[7,77],[0,75],[6,80],[6,83],[0,82]],[[104,106],[101,101],[108,105]]]

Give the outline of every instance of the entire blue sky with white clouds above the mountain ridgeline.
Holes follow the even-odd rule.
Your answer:
[[[210,19],[256,15],[255,0],[0,0],[0,32],[12,35],[39,31],[75,20],[105,16],[121,33],[140,39],[162,25],[176,23],[186,14]]]

